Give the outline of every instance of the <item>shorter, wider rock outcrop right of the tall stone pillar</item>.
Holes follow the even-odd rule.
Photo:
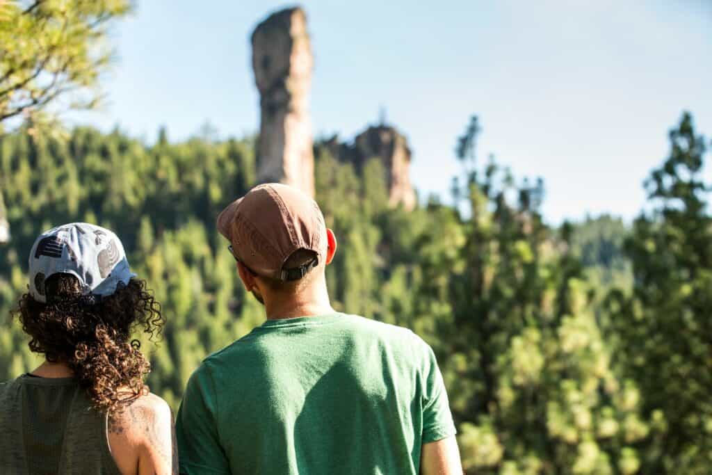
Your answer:
[[[357,135],[352,144],[340,142],[337,137],[333,137],[321,145],[340,162],[354,165],[359,174],[367,160],[380,159],[386,172],[389,204],[402,204],[408,211],[416,206],[417,196],[410,182],[410,147],[404,135],[395,127],[372,125]]]

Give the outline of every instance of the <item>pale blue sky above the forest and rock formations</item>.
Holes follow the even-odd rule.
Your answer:
[[[117,24],[106,107],[71,115],[152,142],[209,122],[258,128],[249,35],[276,1],[139,0]],[[409,138],[422,197],[449,202],[468,117],[517,177],[543,177],[547,219],[631,219],[683,110],[712,136],[712,2],[305,1],[316,135],[349,140],[387,120]],[[708,156],[708,160],[710,157]],[[711,167],[712,169],[712,167]]]

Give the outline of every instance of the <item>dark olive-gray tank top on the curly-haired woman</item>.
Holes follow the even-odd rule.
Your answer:
[[[106,424],[70,377],[0,383],[0,474],[121,475]]]

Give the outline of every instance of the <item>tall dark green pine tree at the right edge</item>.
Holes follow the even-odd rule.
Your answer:
[[[712,217],[702,181],[704,137],[685,113],[670,131],[670,155],[651,172],[654,209],[634,222],[626,250],[631,297],[609,298],[610,332],[644,414],[663,432],[644,473],[706,474],[712,466]]]

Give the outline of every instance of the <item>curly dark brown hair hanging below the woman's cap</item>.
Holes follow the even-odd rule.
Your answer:
[[[82,296],[71,274],[56,273],[45,286],[47,303],[25,293],[13,311],[31,337],[30,350],[49,362],[66,363],[102,411],[119,409],[122,402],[146,392],[144,379],[151,366],[131,333],[141,328],[155,340],[164,325],[146,282],[132,278],[96,302]]]

